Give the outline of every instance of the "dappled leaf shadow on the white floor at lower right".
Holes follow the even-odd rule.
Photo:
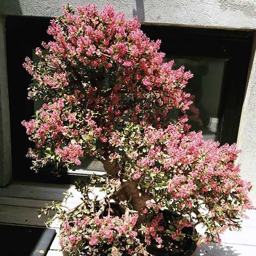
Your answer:
[[[197,247],[195,256],[239,256],[241,255],[237,252],[231,245],[223,244],[203,244],[202,247]]]

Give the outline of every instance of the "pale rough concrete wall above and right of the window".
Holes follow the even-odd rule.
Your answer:
[[[54,17],[61,13],[60,6],[66,2],[61,0],[2,0],[0,14]],[[127,18],[137,15],[139,20],[145,23],[222,29],[256,29],[255,0],[71,0],[69,2],[73,6],[95,3],[99,9],[106,3],[112,4],[116,10],[124,11]],[[3,38],[0,38],[0,43],[1,40],[3,41]],[[254,52],[255,47],[238,135],[238,147],[243,150],[238,162],[242,163],[243,178],[253,182],[254,189],[251,197],[256,204],[256,60]],[[2,103],[5,108],[7,108],[6,104],[7,100]],[[5,129],[9,129],[9,126]]]

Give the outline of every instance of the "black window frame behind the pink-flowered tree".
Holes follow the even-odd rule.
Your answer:
[[[28,147],[33,147],[21,125],[23,119],[34,115],[34,102],[27,100],[27,87],[31,77],[22,67],[25,57],[32,58],[31,49],[48,42],[52,37],[46,30],[50,18],[6,18],[7,74],[11,118],[11,146],[13,179],[47,183],[74,183],[86,177],[65,174],[61,178],[46,172],[34,173],[29,169],[31,159],[26,158]],[[142,25],[150,39],[161,39],[161,51],[183,57],[226,58],[225,76],[219,107],[218,138],[221,144],[237,140],[247,74],[252,50],[253,32],[205,28]]]

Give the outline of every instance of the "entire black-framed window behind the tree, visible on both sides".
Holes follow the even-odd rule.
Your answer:
[[[7,17],[6,43],[9,79],[13,177],[16,180],[33,180],[53,183],[72,183],[86,172],[100,171],[102,166],[90,159],[76,172],[69,171],[54,178],[47,171],[33,174],[26,158],[29,142],[23,119],[34,114],[34,103],[27,100],[27,87],[31,77],[23,69],[26,56],[33,57],[33,49],[42,41],[50,41],[46,30],[49,19]],[[203,130],[205,139],[223,143],[236,142],[249,68],[253,34],[249,31],[182,28],[142,25],[151,39],[161,39],[161,51],[166,61],[175,60],[175,67],[184,65],[194,73],[187,91],[194,99],[189,111],[193,130]],[[49,177],[50,175],[50,177]]]

